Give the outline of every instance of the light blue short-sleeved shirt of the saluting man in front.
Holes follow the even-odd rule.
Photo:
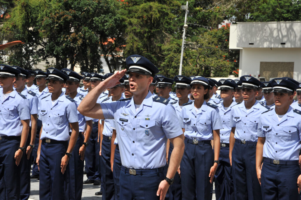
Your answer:
[[[167,138],[183,134],[175,109],[151,92],[136,112],[134,100],[101,103],[104,118],[115,119],[122,165],[126,168],[154,169],[166,165]]]

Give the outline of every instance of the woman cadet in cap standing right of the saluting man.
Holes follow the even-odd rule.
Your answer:
[[[219,164],[222,128],[218,106],[206,103],[209,82],[196,76],[191,81],[194,102],[184,104],[180,120],[185,136],[181,162],[182,199],[211,199],[212,181]],[[214,140],[214,152],[211,146]]]

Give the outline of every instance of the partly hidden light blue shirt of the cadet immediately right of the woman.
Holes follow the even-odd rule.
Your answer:
[[[221,116],[222,126],[223,128],[219,130],[219,137],[221,138],[221,143],[229,143],[230,133],[232,127],[230,126],[230,119],[231,119],[231,107],[235,106],[237,103],[232,101],[231,105],[228,109],[225,109],[224,102],[219,103],[219,115]]]

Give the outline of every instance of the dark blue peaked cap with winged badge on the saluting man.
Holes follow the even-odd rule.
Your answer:
[[[129,67],[129,72],[151,75],[154,77],[159,72],[159,69],[147,58],[139,55],[131,55],[126,58],[126,66]]]

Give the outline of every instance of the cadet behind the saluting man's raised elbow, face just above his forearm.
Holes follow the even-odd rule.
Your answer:
[[[90,73],[91,75],[91,88],[92,90],[100,84],[104,76],[98,74],[98,73]],[[91,91],[92,91],[91,90]],[[101,99],[105,97],[104,95],[98,97],[98,103],[101,103]],[[87,173],[87,180],[85,180],[83,183],[84,184],[91,184],[93,185],[101,185],[101,165],[100,165],[100,154],[99,154],[99,149],[100,149],[100,144],[99,144],[99,131],[100,131],[100,126],[98,125],[99,123],[99,118],[93,118],[92,119],[92,132],[91,136],[89,138],[89,146],[86,148],[86,156],[85,156],[85,171]],[[98,192],[99,195],[102,194],[102,186],[100,192]]]

